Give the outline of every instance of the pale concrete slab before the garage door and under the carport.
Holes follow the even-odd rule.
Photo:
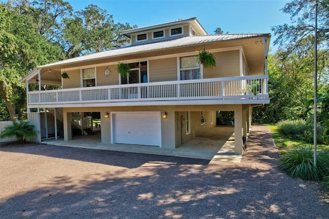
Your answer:
[[[234,154],[234,126],[214,127],[176,149],[133,144],[102,144],[101,134],[74,136],[71,141],[64,141],[64,138],[45,139],[42,143],[76,148],[207,159],[214,162],[240,162],[242,157]]]

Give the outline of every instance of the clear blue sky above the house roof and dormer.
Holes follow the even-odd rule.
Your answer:
[[[283,0],[70,0],[75,11],[95,4],[113,15],[114,22],[138,27],[197,17],[209,34],[217,27],[229,33],[271,33],[271,27],[289,23],[280,9],[290,1]]]

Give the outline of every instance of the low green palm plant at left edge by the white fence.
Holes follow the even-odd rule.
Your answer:
[[[30,125],[27,121],[13,121],[12,125],[5,127],[0,138],[16,137],[17,141],[24,143],[26,139],[36,136],[36,131],[33,130],[34,125]]]

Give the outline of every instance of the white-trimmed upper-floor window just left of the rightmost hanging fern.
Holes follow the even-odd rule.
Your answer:
[[[201,67],[196,56],[180,57],[180,80],[201,79]]]

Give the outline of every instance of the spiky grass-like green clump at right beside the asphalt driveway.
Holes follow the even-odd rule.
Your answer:
[[[318,151],[317,168],[314,166],[314,150],[312,147],[295,148],[280,158],[279,168],[290,176],[303,180],[320,181],[329,176],[329,151]]]

